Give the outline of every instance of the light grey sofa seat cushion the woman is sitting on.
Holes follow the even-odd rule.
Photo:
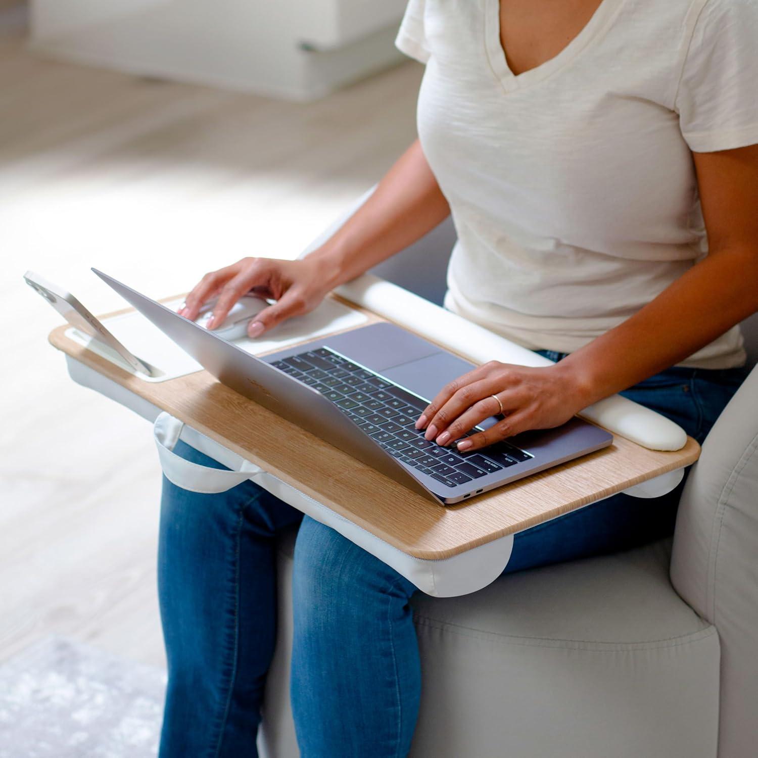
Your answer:
[[[260,747],[295,758],[292,548]],[[412,758],[715,758],[719,640],[669,583],[668,540],[412,605],[423,693]]]

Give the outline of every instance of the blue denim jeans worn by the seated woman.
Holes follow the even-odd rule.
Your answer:
[[[744,375],[670,368],[622,394],[703,440]],[[177,453],[223,468],[183,443]],[[528,529],[515,536],[503,573],[671,534],[680,493],[681,485],[654,500],[619,494]],[[298,524],[290,684],[301,754],[408,753],[421,697],[409,605],[415,586],[250,481],[208,495],[164,479],[158,590],[168,691],[161,758],[257,755],[276,638],[277,537]]]

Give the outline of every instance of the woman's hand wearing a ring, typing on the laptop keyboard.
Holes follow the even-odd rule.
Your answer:
[[[427,440],[448,445],[485,418],[500,415],[502,404],[501,421],[458,443],[459,450],[475,450],[528,429],[560,426],[590,404],[586,396],[560,363],[528,368],[490,361],[443,387],[416,428],[426,429]]]

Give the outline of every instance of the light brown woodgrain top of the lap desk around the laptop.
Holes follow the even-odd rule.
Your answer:
[[[374,314],[367,315],[370,321],[381,321]],[[441,506],[224,387],[207,371],[145,382],[69,340],[65,336],[68,328],[67,324],[57,327],[49,337],[50,343],[68,356],[271,471],[402,552],[423,559],[449,558],[523,531],[690,465],[700,454],[700,446],[691,437],[681,450],[669,453],[614,436],[612,445],[597,453],[465,503]]]

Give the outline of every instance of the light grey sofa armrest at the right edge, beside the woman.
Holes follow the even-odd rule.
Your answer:
[[[719,758],[758,744],[758,368],[703,443],[681,496],[671,578],[719,631]]]

